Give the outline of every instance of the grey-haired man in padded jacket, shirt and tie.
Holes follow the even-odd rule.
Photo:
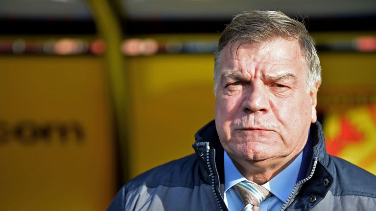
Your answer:
[[[109,211],[375,210],[376,177],[325,150],[320,72],[301,22],[237,15],[219,39],[215,121],[195,154],[131,180]]]

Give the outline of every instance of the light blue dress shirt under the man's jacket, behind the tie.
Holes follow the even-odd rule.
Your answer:
[[[303,153],[301,152],[286,169],[283,169],[279,174],[273,177],[273,179],[262,185],[262,187],[269,190],[272,195],[270,195],[260,204],[260,211],[281,210],[283,203],[287,200],[297,182],[300,165],[302,164],[302,158]],[[229,211],[241,211],[244,208],[244,205],[233,186],[239,182],[248,180],[244,178],[244,176],[236,169],[233,161],[227,155],[226,151],[224,155],[224,168],[225,204]]]

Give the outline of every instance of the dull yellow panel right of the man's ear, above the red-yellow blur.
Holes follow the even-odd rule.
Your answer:
[[[318,109],[332,113],[376,103],[376,54],[322,52]]]

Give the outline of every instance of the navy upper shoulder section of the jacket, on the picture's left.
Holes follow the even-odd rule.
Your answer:
[[[150,169],[130,180],[124,188],[137,189],[140,186],[155,188],[165,187],[193,187],[197,175],[197,158],[195,154]],[[196,174],[195,174],[196,173]]]

